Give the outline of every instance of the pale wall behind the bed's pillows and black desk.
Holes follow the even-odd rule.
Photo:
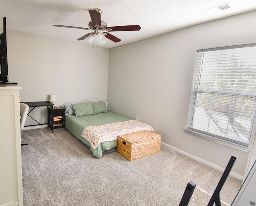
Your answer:
[[[10,30],[7,47],[9,80],[22,87],[22,102],[48,101],[50,94],[55,105],[107,99],[109,49],[98,47],[96,56],[92,45]]]

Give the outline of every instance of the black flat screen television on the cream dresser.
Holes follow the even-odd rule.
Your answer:
[[[6,43],[6,18],[3,21],[3,33],[1,33],[1,69],[0,69],[0,84],[17,84],[17,82],[9,82],[8,77],[8,62],[7,62],[7,43]]]

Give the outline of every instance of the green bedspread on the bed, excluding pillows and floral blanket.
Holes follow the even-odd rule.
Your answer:
[[[102,142],[96,149],[93,149],[90,143],[81,136],[84,128],[89,126],[110,124],[114,122],[124,122],[128,120],[133,119],[110,111],[106,113],[98,113],[80,117],[76,117],[75,115],[66,115],[65,128],[68,129],[68,131],[70,131],[70,133],[72,133],[72,135],[74,135],[77,139],[90,147],[90,150],[95,157],[100,158],[102,157],[102,153],[104,151],[110,150],[117,146],[117,140]]]

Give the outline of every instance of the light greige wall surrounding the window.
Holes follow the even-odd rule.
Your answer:
[[[197,49],[256,42],[256,11],[180,29],[110,49],[108,101],[112,111],[151,124],[162,141],[244,176],[248,152],[187,132]],[[253,134],[255,135],[255,133]]]

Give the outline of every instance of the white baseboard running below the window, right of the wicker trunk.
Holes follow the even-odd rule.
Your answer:
[[[220,171],[220,172],[224,172],[224,170],[225,170],[225,168],[222,168],[222,167],[220,167],[220,166],[218,166],[218,165],[215,165],[215,164],[213,164],[213,163],[210,163],[210,162],[208,162],[208,161],[206,161],[206,160],[204,160],[204,159],[201,159],[201,158],[199,158],[199,157],[196,157],[196,156],[194,156],[194,155],[191,155],[190,153],[187,153],[187,152],[185,152],[185,151],[182,151],[182,150],[180,150],[180,149],[177,149],[176,147],[172,147],[171,145],[168,145],[168,144],[166,144],[166,143],[164,143],[164,142],[161,142],[161,145],[164,145],[164,146],[166,146],[166,147],[168,147],[168,148],[170,148],[170,149],[172,149],[172,150],[174,150],[174,151],[176,151],[176,152],[178,152],[178,153],[181,153],[182,155],[186,155],[187,157],[190,157],[191,159],[194,159],[194,160],[196,160],[196,161],[198,161],[198,162],[200,162],[200,163],[203,163],[204,165],[207,165],[207,166],[209,166],[209,167],[212,167],[213,169],[216,169],[216,170],[218,170],[218,171]],[[236,179],[239,179],[239,180],[244,180],[244,177],[242,176],[242,175],[238,175],[237,173],[234,173],[234,172],[230,172],[230,176],[232,176],[232,177],[234,177],[234,178],[236,178]]]

